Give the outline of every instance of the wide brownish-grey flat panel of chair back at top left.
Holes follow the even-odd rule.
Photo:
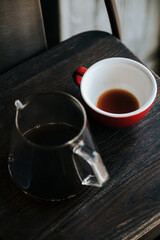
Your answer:
[[[46,49],[40,2],[1,0],[0,72]]]

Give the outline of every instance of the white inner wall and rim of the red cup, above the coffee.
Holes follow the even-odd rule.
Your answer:
[[[92,65],[81,81],[81,94],[85,102],[95,111],[105,115],[133,115],[132,113],[113,114],[96,107],[102,93],[110,89],[123,89],[131,92],[138,100],[140,108],[134,114],[152,104],[157,85],[152,73],[142,64],[127,58],[108,58]]]

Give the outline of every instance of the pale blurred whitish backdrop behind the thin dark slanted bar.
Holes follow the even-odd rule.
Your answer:
[[[160,75],[160,0],[116,0],[122,42]],[[111,33],[104,0],[59,0],[60,40],[88,30]]]

